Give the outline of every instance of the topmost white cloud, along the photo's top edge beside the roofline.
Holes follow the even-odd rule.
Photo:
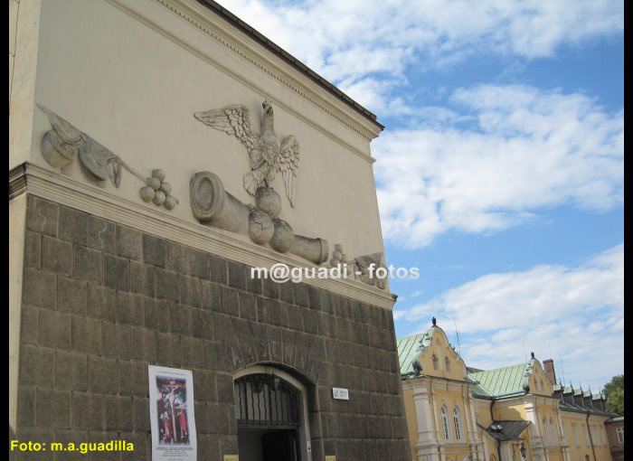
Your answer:
[[[526,59],[549,57],[562,44],[623,30],[615,0],[307,0],[223,2],[309,67],[373,110],[388,105],[388,89],[362,80],[379,73],[450,66],[482,52]],[[359,90],[360,89],[360,90]],[[376,100],[379,102],[376,103]]]

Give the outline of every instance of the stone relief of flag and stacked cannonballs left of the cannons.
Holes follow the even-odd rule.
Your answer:
[[[42,155],[49,165],[64,168],[71,165],[79,156],[81,165],[96,180],[109,179],[115,187],[121,183],[121,169],[124,168],[140,181],[146,184],[139,191],[144,202],[153,202],[156,206],[164,206],[166,210],[173,210],[178,200],[171,195],[172,187],[165,183],[165,172],[154,170],[152,177],[145,178],[127,165],[118,155],[112,153],[97,141],[73,127],[69,122],[55,114],[51,109],[37,105],[48,117],[52,129],[47,131],[40,146]]]

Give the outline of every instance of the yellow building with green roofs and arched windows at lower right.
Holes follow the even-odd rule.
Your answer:
[[[398,353],[414,460],[612,459],[605,422],[617,415],[602,396],[556,384],[551,359],[469,368],[435,319]]]

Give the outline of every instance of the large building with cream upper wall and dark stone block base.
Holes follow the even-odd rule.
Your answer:
[[[211,1],[10,4],[10,437],[149,459],[160,365],[199,460],[411,459],[375,116]]]

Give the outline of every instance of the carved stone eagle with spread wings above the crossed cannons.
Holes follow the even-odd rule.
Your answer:
[[[227,135],[237,136],[242,146],[246,147],[250,158],[250,172],[244,174],[246,192],[254,196],[259,187],[269,187],[276,174],[280,172],[286,187],[286,196],[290,205],[294,207],[299,144],[292,135],[279,144],[279,137],[275,134],[272,105],[265,100],[261,107],[264,109],[264,116],[260,133],[255,133],[250,127],[250,114],[246,106],[196,112],[194,117]]]

